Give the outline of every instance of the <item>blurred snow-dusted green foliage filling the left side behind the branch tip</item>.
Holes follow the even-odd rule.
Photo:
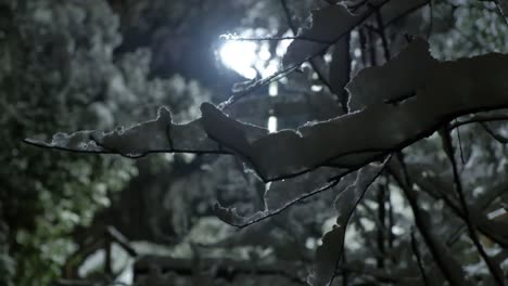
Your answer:
[[[0,159],[9,166],[0,172],[0,284],[49,285],[77,248],[73,231],[109,207],[137,169],[113,157],[40,153],[21,144],[24,135],[132,122],[153,113],[138,107],[150,102],[172,102],[187,120],[207,93],[178,76],[149,81],[145,50],[115,58],[118,17],[104,1],[0,6]]]

